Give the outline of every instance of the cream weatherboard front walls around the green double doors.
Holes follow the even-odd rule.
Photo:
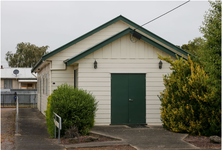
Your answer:
[[[64,68],[64,60],[72,58],[128,27],[128,24],[118,21],[57,53],[48,59],[51,61],[51,69]],[[164,89],[163,74],[171,71],[166,62],[163,62],[163,68],[159,69],[160,60],[157,58],[157,52],[168,56],[142,40],[132,43],[127,34],[68,66],[66,70],[50,71],[49,69],[50,93],[63,83],[74,85],[74,69],[78,68],[78,87],[93,92],[99,101],[95,124],[109,125],[111,121],[111,73],[146,73],[146,121],[149,125],[161,124],[160,100],[157,95]],[[98,62],[97,69],[93,68],[95,60]],[[46,109],[47,96],[43,95],[42,100],[44,101],[42,107]]]

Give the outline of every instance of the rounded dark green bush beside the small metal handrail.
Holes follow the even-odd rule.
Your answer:
[[[73,126],[78,128],[81,135],[88,134],[94,126],[97,102],[94,96],[85,90],[62,84],[53,91],[50,106],[50,113],[55,112],[62,118],[62,136]],[[49,134],[53,135],[51,132]]]

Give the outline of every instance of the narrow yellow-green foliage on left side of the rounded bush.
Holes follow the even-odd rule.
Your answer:
[[[54,118],[53,111],[51,109],[51,95],[47,98],[47,100],[48,100],[47,110],[45,111],[46,124],[47,124],[48,133],[50,134],[50,137],[53,138],[54,133],[55,133],[55,124],[54,124],[54,121],[53,121],[53,118]]]

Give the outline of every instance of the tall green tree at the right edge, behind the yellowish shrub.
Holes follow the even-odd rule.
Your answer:
[[[204,16],[204,43],[199,59],[211,78],[211,86],[216,87],[216,97],[221,99],[221,1],[210,2],[211,9]]]

